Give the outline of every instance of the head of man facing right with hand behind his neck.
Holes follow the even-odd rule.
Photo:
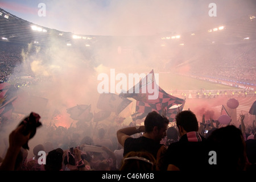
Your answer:
[[[156,111],[152,111],[147,114],[144,120],[145,133],[154,134],[154,139],[160,141],[166,136],[168,123],[169,120],[166,117],[163,117]]]

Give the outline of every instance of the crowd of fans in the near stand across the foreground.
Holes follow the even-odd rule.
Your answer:
[[[181,111],[180,113],[180,115],[188,115],[185,116],[183,120],[185,124],[180,124],[177,116],[176,122],[175,124],[172,123],[174,124],[172,126],[167,126],[169,122],[168,120],[167,122],[164,120],[164,126],[167,127],[161,125],[164,129],[158,129],[158,134],[155,135],[155,138],[152,137],[152,133],[156,131],[147,131],[148,129],[146,129],[146,127],[148,127],[147,125],[160,124],[152,124],[151,122],[153,122],[153,120],[147,118],[149,118],[150,114],[155,114],[160,118],[163,116],[154,111],[148,114],[144,125],[141,126],[135,126],[134,123],[130,123],[129,126],[113,124],[112,126],[104,125],[92,127],[91,123],[85,122],[79,127],[70,126],[67,128],[50,124],[38,128],[36,135],[40,135],[42,140],[34,144],[29,143],[30,138],[23,135],[23,127],[19,126],[10,133],[10,144],[8,144],[6,138],[4,139],[6,150],[2,154],[2,158],[0,157],[0,169],[3,171],[187,171],[193,170],[189,169],[191,166],[199,167],[202,165],[200,168],[204,168],[203,161],[207,160],[208,162],[208,155],[204,155],[205,151],[201,148],[202,146],[197,146],[196,143],[203,143],[209,138],[210,142],[213,142],[211,143],[213,146],[216,144],[216,140],[219,140],[217,146],[227,144],[228,147],[232,147],[225,147],[227,151],[222,151],[224,150],[223,148],[214,148],[217,149],[218,157],[222,156],[222,152],[224,152],[224,156],[229,152],[234,152],[234,156],[236,156],[237,154],[240,155],[240,151],[242,151],[242,157],[238,156],[238,158],[242,158],[242,162],[240,159],[237,162],[236,159],[233,158],[233,154],[228,154],[231,159],[229,157],[226,157],[226,159],[221,158],[221,160],[223,160],[222,162],[224,162],[221,165],[224,166],[217,167],[216,169],[223,170],[225,168],[222,167],[230,167],[227,170],[255,170],[255,119],[250,121],[251,123],[249,123],[249,125],[245,125],[244,119],[247,116],[240,115],[241,125],[236,127],[232,125],[232,123],[222,125],[220,122],[213,122],[211,119],[205,121],[204,115],[202,120],[197,122],[195,114],[190,110]],[[149,123],[148,120],[150,121]],[[189,127],[193,125],[195,129],[190,131]],[[205,131],[208,131],[208,133],[205,133]],[[142,135],[141,132],[145,133]],[[161,132],[162,135],[159,135]],[[195,134],[195,136],[193,134]],[[239,135],[241,137],[239,137]],[[170,159],[170,154],[168,154],[169,146],[174,150],[170,152],[174,152],[171,153],[171,156],[175,158],[177,155],[175,155],[175,150],[179,151],[180,149],[177,146],[184,144],[184,136],[187,137],[186,140],[188,140],[189,143],[188,146],[185,145],[188,147],[187,150],[183,148],[184,150],[181,152],[182,154],[185,152],[185,156],[182,157],[182,155],[179,154],[178,156],[181,156],[182,159]],[[143,144],[132,144],[126,142],[128,138],[129,141],[139,138],[147,139],[143,141]],[[28,155],[28,150],[22,147],[25,141],[28,141],[28,145],[32,149],[30,150],[33,154],[32,156]],[[191,143],[193,143],[192,146]],[[194,144],[196,145],[194,146]],[[164,148],[162,158],[159,158],[159,154],[162,154],[161,152],[159,153],[158,151],[156,154],[154,145]],[[189,147],[196,150],[198,154],[190,150]],[[234,149],[237,151],[231,151]],[[43,159],[41,158],[42,153],[40,152],[42,151],[46,152],[45,163],[43,163]],[[227,152],[227,154],[225,152]],[[194,158],[188,159],[187,155],[194,155]],[[177,158],[179,158],[178,156]],[[169,160],[171,164],[166,163]],[[184,160],[187,160],[187,162]],[[172,162],[174,162],[176,166],[173,166]],[[198,162],[198,164],[196,164],[196,162]],[[218,163],[222,162],[218,160]],[[13,166],[11,164],[13,164]],[[236,164],[236,166],[234,166],[234,164]],[[212,169],[214,169],[214,167]]]

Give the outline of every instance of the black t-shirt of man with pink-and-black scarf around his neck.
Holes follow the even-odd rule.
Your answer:
[[[178,167],[180,171],[200,171],[208,167],[208,150],[206,141],[188,142],[183,135],[179,142],[171,143],[164,157],[164,169],[169,164]]]

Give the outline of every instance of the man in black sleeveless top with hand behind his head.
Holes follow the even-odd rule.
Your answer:
[[[147,114],[144,126],[126,127],[117,131],[118,142],[123,146],[123,156],[131,151],[148,151],[158,161],[162,157],[166,147],[160,144],[166,137],[168,119],[152,111]],[[131,135],[144,132],[141,137],[133,138]]]

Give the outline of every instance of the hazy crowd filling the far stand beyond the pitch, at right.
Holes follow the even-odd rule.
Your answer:
[[[182,47],[171,53],[159,70],[256,84],[254,43]]]

